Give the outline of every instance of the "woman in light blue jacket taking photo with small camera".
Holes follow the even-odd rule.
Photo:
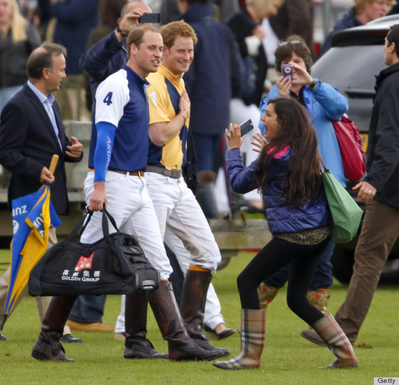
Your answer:
[[[260,116],[274,97],[291,97],[300,102],[309,111],[308,118],[318,137],[318,152],[328,169],[345,187],[341,153],[331,120],[340,120],[342,114],[348,109],[346,97],[331,85],[311,77],[311,65],[313,64],[311,51],[300,36],[291,35],[281,41],[275,55],[276,69],[283,73],[282,66],[288,64],[292,71],[292,80],[288,76],[281,76],[277,80],[272,90],[263,97],[260,103]],[[263,124],[261,120],[259,128],[262,132]],[[327,311],[328,288],[332,285],[332,264],[330,260],[334,246],[334,244],[329,244],[318,260],[309,286],[309,301],[323,312]],[[259,287],[260,306],[265,309],[269,302],[274,299],[279,288],[286,284],[287,279],[288,267],[269,276]],[[314,342],[314,339],[312,339],[314,332],[311,330],[304,330],[302,335]]]

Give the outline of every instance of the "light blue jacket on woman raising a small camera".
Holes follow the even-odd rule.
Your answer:
[[[316,78],[314,79],[317,80]],[[269,100],[279,96],[277,86],[273,85],[272,90],[260,102],[260,116],[265,114]],[[311,124],[317,133],[318,152],[330,172],[345,187],[341,151],[339,150],[337,136],[331,120],[341,119],[341,116],[349,109],[348,100],[334,87],[321,81],[318,81],[314,91],[311,91],[309,87],[304,87],[303,99],[305,108],[310,112],[309,119]],[[259,128],[262,133],[265,131],[262,120],[259,120]]]

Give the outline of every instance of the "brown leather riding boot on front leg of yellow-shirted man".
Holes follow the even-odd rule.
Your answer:
[[[191,267],[191,266],[190,266]],[[205,303],[212,273],[207,271],[187,270],[181,294],[181,316],[186,325],[188,335],[195,340],[198,346],[205,350],[223,351],[223,356],[229,356],[228,349],[216,348],[209,344],[207,336],[202,329],[204,326]]]

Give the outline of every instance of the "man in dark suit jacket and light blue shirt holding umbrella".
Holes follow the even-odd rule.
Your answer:
[[[65,56],[65,48],[54,43],[43,43],[31,52],[27,61],[29,80],[1,112],[0,164],[10,172],[9,209],[12,200],[34,193],[45,183],[50,185],[51,202],[57,214],[68,214],[64,162],[79,162],[83,158],[83,145],[75,137],[66,137],[52,95],[66,77]],[[48,170],[53,154],[59,155],[54,175]],[[55,229],[50,229],[48,247],[56,241]],[[0,278],[0,307],[6,300],[9,274],[8,269]],[[50,297],[36,297],[36,301],[43,319]],[[76,342],[70,330],[64,330],[64,335],[67,342]],[[0,335],[0,339],[5,337]]]

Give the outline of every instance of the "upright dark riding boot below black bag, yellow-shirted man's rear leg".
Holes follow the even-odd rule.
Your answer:
[[[147,293],[126,295],[125,300],[125,358],[169,358],[154,349],[147,335]]]

